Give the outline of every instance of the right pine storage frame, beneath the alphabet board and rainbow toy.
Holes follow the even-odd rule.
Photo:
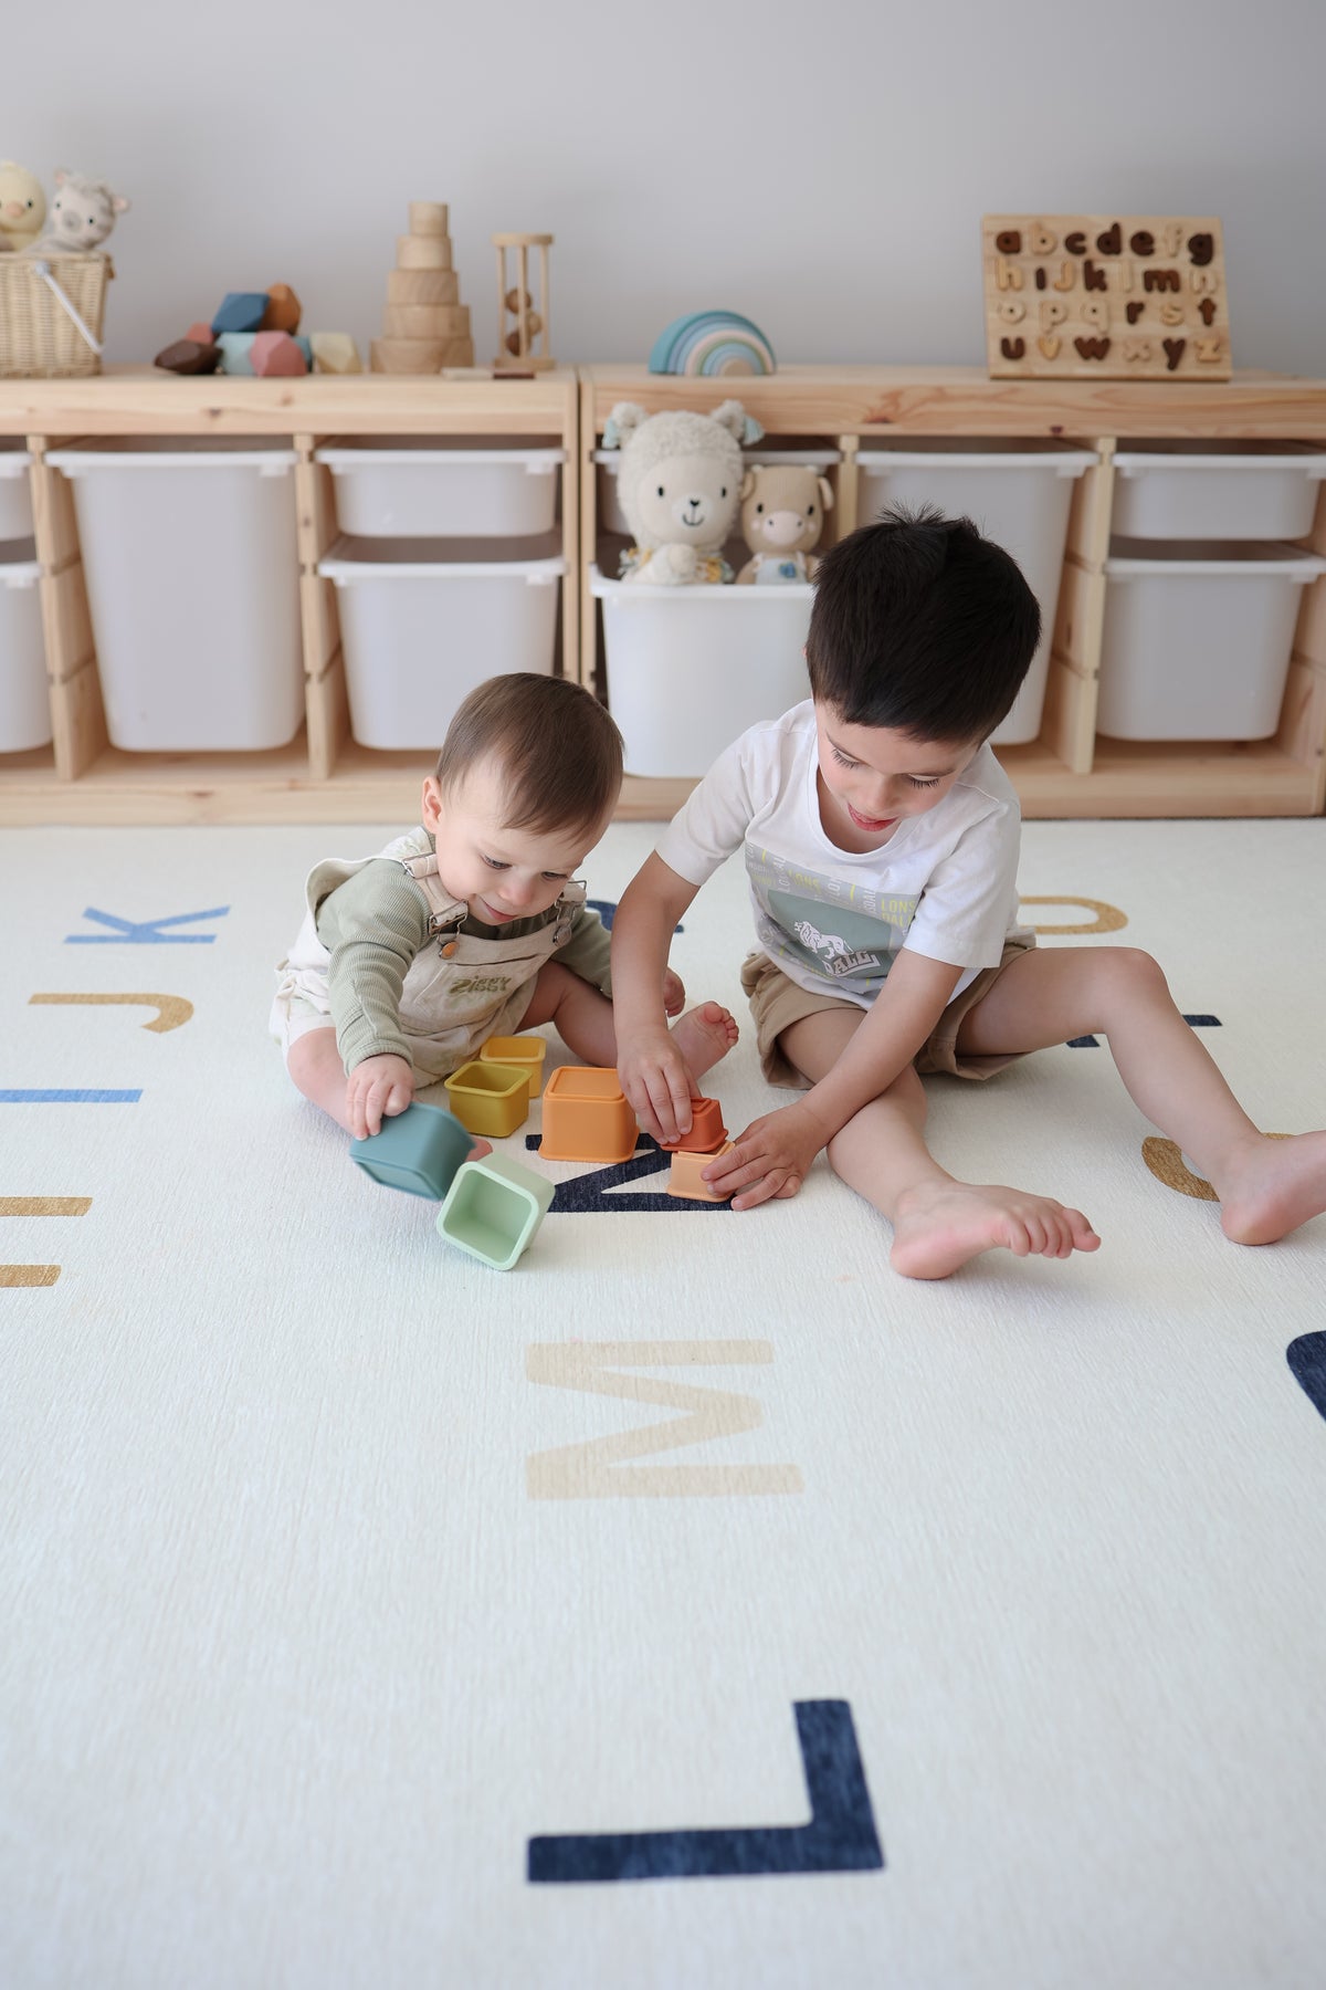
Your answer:
[[[829,535],[857,519],[857,452],[883,438],[1054,440],[1099,456],[1074,490],[1040,738],[998,748],[1026,816],[1312,816],[1326,806],[1326,577],[1304,589],[1280,728],[1250,744],[1127,744],[1095,732],[1113,454],[1125,438],[1229,438],[1326,446],[1326,380],[990,380],[964,366],[785,366],[767,378],[670,378],[580,368],[580,673],[604,691],[588,565],[600,527],[594,450],[618,400],[650,414],[742,400],[771,444],[819,436],[841,450]],[[1310,545],[1326,553],[1326,484]],[[608,704],[610,704],[610,685]],[[692,780],[628,776],[622,816],[666,818]]]

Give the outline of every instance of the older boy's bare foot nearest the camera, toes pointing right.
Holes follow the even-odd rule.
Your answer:
[[[899,1200],[889,1262],[903,1278],[948,1278],[984,1250],[1068,1258],[1097,1248],[1099,1238],[1081,1210],[1066,1210],[1050,1196],[992,1182],[922,1182]]]

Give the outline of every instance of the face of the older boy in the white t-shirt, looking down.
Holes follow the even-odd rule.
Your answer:
[[[980,740],[914,740],[855,726],[815,704],[819,818],[843,850],[879,850],[907,816],[924,816],[980,752]]]

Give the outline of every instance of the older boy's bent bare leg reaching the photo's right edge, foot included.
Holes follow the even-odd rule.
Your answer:
[[[1133,1102],[1221,1198],[1237,1244],[1270,1244],[1326,1210],[1326,1132],[1266,1138],[1183,1021],[1161,967],[1135,947],[1034,947],[964,1017],[974,1055],[1101,1035]]]

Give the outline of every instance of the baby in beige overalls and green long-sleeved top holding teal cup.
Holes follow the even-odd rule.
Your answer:
[[[610,941],[575,872],[620,784],[620,734],[588,691],[535,673],[479,685],[423,782],[419,828],[308,876],[270,1017],[304,1096],[364,1138],[485,1037],[541,1023],[586,1065],[616,1065]],[[684,1001],[672,969],[662,1001],[670,1017]],[[736,1037],[712,1001],[672,1029],[696,1083]]]

